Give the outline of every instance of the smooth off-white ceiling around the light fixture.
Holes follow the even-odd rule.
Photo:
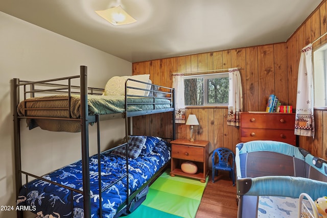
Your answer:
[[[1,0],[0,11],[130,62],[285,42],[321,0]],[[95,13],[117,5],[136,20]]]

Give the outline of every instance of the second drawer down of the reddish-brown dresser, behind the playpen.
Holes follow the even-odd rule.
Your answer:
[[[273,140],[295,145],[294,130],[241,129],[241,141]]]

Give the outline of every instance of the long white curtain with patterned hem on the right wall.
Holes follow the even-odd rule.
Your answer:
[[[312,44],[303,47],[298,66],[295,135],[315,136],[313,116]]]

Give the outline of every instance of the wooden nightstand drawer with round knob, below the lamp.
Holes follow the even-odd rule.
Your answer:
[[[203,148],[174,144],[172,147],[172,157],[183,160],[203,162]]]

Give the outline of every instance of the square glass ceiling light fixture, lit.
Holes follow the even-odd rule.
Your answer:
[[[126,11],[124,11],[122,6],[120,5],[114,8],[96,11],[96,13],[107,21],[109,21],[110,23],[112,23],[112,25],[114,26],[126,25],[137,21]]]

